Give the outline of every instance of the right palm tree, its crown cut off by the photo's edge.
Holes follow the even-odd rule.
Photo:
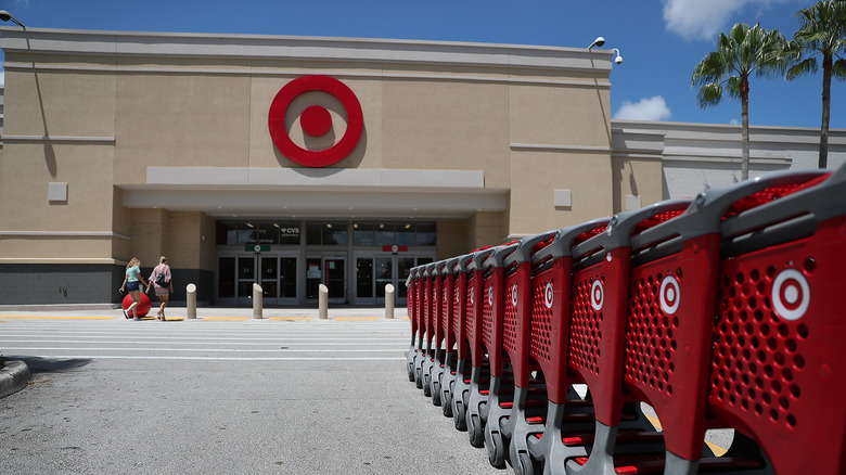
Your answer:
[[[846,80],[846,1],[820,1],[796,12],[799,30],[793,35],[787,54],[795,64],[787,69],[793,80],[818,69],[822,56],[822,125],[820,127],[819,167],[829,162],[829,118],[831,117],[831,78]],[[835,61],[836,60],[836,61]]]

